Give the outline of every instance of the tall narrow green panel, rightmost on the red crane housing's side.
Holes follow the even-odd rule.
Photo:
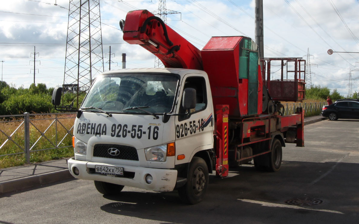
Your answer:
[[[258,111],[258,52],[249,52],[248,114]]]

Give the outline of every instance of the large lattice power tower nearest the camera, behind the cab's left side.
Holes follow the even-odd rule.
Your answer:
[[[63,87],[64,94],[73,94],[76,108],[103,71],[99,0],[70,0]]]

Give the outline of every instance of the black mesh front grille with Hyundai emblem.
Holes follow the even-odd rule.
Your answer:
[[[120,151],[120,153],[114,153],[114,151]],[[112,154],[109,151],[113,152]],[[138,161],[137,150],[131,146],[122,146],[116,144],[96,144],[93,148],[93,156],[112,158],[112,159],[127,159]]]

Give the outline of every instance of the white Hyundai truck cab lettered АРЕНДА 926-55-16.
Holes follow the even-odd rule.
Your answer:
[[[192,99],[193,105],[183,108],[184,98]],[[180,68],[108,71],[96,78],[79,108],[74,124],[75,157],[68,166],[74,177],[94,180],[104,194],[121,191],[123,186],[172,191],[186,184],[189,164],[198,153],[208,155],[204,161],[212,172],[213,132],[206,72]],[[206,190],[208,171],[194,172],[199,180],[194,194],[198,195]]]

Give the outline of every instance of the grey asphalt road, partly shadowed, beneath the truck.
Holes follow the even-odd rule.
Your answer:
[[[359,223],[358,134],[359,120],[306,125],[305,147],[287,144],[279,172],[245,165],[211,176],[197,205],[131,187],[102,196],[71,180],[0,195],[0,223]]]

